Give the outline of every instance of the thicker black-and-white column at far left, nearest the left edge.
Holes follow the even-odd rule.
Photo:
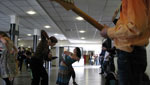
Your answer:
[[[19,17],[16,15],[10,15],[10,38],[14,42],[15,46],[18,45],[19,36]]]

